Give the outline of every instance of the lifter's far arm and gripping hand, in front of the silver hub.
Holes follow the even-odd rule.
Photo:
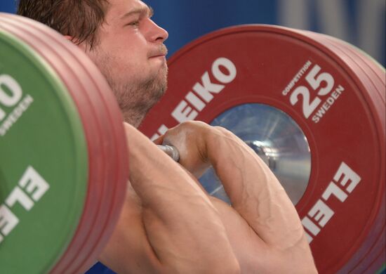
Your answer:
[[[317,273],[284,188],[237,136],[221,127],[186,122],[156,142],[178,148],[180,164],[194,176],[213,165],[232,207],[208,197],[220,213],[241,273]]]

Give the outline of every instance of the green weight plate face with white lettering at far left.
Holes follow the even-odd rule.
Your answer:
[[[0,266],[44,273],[84,207],[84,129],[58,75],[1,24],[0,82]]]

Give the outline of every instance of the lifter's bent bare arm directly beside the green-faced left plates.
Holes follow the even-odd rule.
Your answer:
[[[117,273],[240,273],[206,193],[147,137],[125,127],[131,185],[100,260]]]

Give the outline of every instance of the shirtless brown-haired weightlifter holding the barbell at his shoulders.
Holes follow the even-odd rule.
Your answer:
[[[136,127],[166,91],[168,33],[140,0],[20,0],[18,14],[58,30],[105,75],[121,107],[130,178],[100,261],[117,273],[316,273],[295,207],[262,160],[229,131],[186,122],[156,143]],[[232,207],[197,178],[213,165]]]

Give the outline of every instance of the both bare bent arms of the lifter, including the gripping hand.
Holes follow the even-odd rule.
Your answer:
[[[118,273],[317,273],[291,200],[237,136],[202,122],[169,130],[156,142],[175,145],[182,168],[133,127],[126,133],[131,186],[101,256],[107,266]],[[232,207],[195,178],[211,164]]]

